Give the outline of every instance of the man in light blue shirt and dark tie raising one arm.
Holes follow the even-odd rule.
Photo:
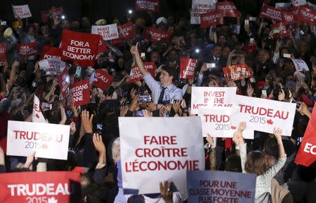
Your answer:
[[[131,54],[136,59],[136,64],[145,83],[152,91],[152,102],[154,102],[154,104],[162,104],[163,102],[170,103],[172,99],[183,99],[182,90],[173,84],[173,80],[176,79],[175,69],[170,66],[162,66],[162,71],[159,76],[160,81],[158,82],[145,70],[140,53],[138,52],[138,43],[131,47]]]

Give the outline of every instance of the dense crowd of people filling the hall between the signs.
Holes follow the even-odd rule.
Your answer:
[[[250,17],[256,20],[249,21]],[[192,87],[237,87],[237,94],[248,97],[298,101],[301,108],[296,109],[291,137],[281,137],[275,129],[274,136],[255,132],[254,139],[244,140],[245,123],[239,124],[232,139],[212,138],[209,132],[201,149],[206,169],[256,174],[256,202],[316,202],[315,169],[294,163],[316,100],[315,24],[298,21],[291,36],[273,38],[271,20],[244,13],[207,29],[190,25],[186,17],[152,13],[147,18],[129,16],[129,21],[136,29],[135,38],[105,42],[108,50],[97,55],[94,66],[82,67],[80,75],[77,64],[67,66],[72,83],[90,78],[97,69],[113,76],[104,92],[91,87],[91,103],[84,106],[67,106],[55,76],[38,68],[39,56],[20,57],[16,46],[36,41],[40,52],[44,45],[58,48],[62,29],[91,33],[91,20],[70,21],[58,15],[47,23],[18,19],[0,26],[0,43],[6,45],[6,59],[0,65],[1,172],[79,172],[83,202],[183,202],[166,180],[160,184],[160,194],[123,194],[118,118],[197,116],[190,112]],[[103,19],[95,23],[106,24]],[[12,29],[9,36],[7,27]],[[145,27],[169,31],[171,40],[147,41],[142,36]],[[180,57],[197,59],[193,78],[180,78]],[[310,71],[296,71],[291,58],[303,59]],[[154,62],[156,77],[146,71],[144,62]],[[143,80],[129,83],[135,64]],[[224,78],[223,67],[234,64],[247,64],[253,77]],[[70,125],[67,160],[36,158],[35,153],[27,158],[6,155],[8,120],[32,121],[34,94],[53,106],[43,112],[46,122]],[[143,102],[140,97],[149,99]]]

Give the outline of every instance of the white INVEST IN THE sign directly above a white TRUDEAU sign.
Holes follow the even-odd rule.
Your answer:
[[[199,106],[232,107],[237,87],[192,87],[191,113],[198,114]]]

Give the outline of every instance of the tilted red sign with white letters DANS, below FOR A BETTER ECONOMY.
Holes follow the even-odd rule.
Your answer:
[[[67,93],[67,106],[74,102],[74,106],[81,106],[90,103],[89,78],[69,85]]]

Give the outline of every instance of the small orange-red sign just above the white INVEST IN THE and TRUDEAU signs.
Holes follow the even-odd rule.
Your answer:
[[[238,64],[228,67],[223,67],[223,73],[226,80],[240,80],[244,78],[251,78],[253,73],[246,64]]]

